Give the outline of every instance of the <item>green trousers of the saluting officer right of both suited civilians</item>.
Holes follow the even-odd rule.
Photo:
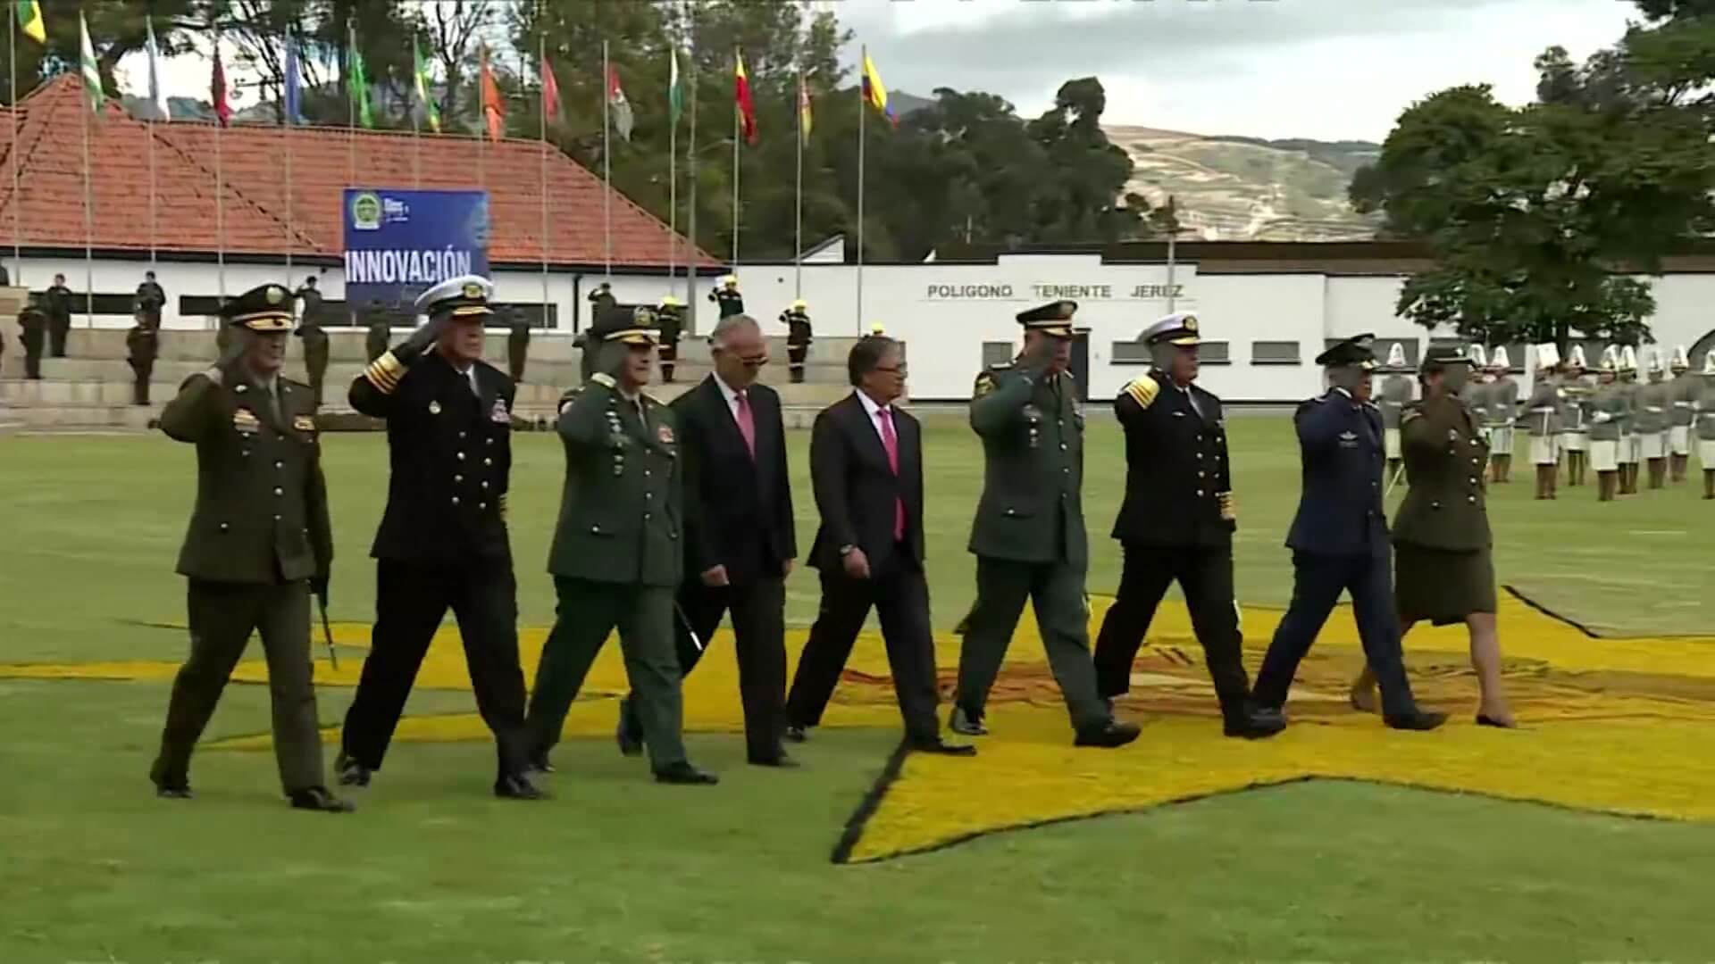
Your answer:
[[[981,719],[988,691],[995,686],[1007,645],[1019,626],[1024,600],[1036,609],[1048,667],[1060,684],[1072,727],[1108,722],[1108,705],[1096,695],[1096,664],[1089,655],[1089,611],[1084,599],[1084,569],[1065,563],[1015,563],[976,557],[976,606],[966,619],[959,650],[959,696],[966,715]]]

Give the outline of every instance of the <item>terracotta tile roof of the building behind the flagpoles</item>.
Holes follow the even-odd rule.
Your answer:
[[[19,192],[12,194],[12,118],[17,111]],[[84,93],[62,74],[17,108],[0,108],[0,238],[12,233],[12,206],[24,247],[84,247]],[[216,232],[213,124],[154,124],[156,247],[214,252],[225,235],[230,254],[273,254],[286,247],[286,146],[292,149],[293,254],[343,250],[341,190],[355,172],[364,187],[487,187],[494,218],[489,261],[537,264],[542,259],[542,142],[478,141],[446,134],[329,127],[233,125],[220,132],[221,216]],[[89,122],[93,245],[99,250],[149,247],[151,125],[108,103]],[[549,148],[547,252],[551,264],[599,266],[605,259],[604,192],[593,173]],[[674,235],[660,220],[612,192],[614,264],[664,266]],[[689,242],[677,238],[683,264]],[[698,252],[705,264],[720,264]]]

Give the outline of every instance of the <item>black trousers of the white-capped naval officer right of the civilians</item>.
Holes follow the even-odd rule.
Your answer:
[[[1250,681],[1245,676],[1243,635],[1233,600],[1233,551],[1230,545],[1140,545],[1123,544],[1125,564],[1120,590],[1096,638],[1096,686],[1113,698],[1132,684],[1132,660],[1156,618],[1156,606],[1178,580],[1185,609],[1202,647],[1202,659],[1228,722],[1245,719]]]

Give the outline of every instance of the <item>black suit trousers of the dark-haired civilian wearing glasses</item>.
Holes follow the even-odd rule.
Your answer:
[[[887,566],[868,580],[854,580],[844,569],[821,569],[821,611],[809,628],[809,642],[797,657],[792,691],[785,698],[785,719],[797,726],[816,726],[833,696],[858,631],[870,609],[882,621],[887,666],[894,674],[894,695],[906,719],[906,739],[930,743],[940,734],[935,715],[935,638],[930,631],[930,585],[923,568],[911,559],[911,549],[895,547]]]

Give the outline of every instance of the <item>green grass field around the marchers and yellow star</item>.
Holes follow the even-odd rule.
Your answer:
[[[1238,592],[1285,604],[1290,429],[1238,417],[1230,436]],[[808,439],[792,441],[808,545]],[[926,449],[947,630],[972,593],[964,539],[981,455],[959,420],[931,422]],[[1092,424],[1089,451],[1089,585],[1103,593],[1118,578],[1115,427]],[[184,618],[172,564],[192,465],[161,436],[0,437],[0,662],[182,657],[182,631],[146,624]],[[384,443],[329,436],[326,465],[333,616],[364,623]],[[552,618],[542,563],[559,477],[557,441],[520,436],[523,626]],[[1490,509],[1502,583],[1600,633],[1715,633],[1715,508],[1691,485],[1535,503],[1530,467],[1514,479]],[[813,575],[796,575],[789,624],[806,626],[815,604]],[[835,866],[828,851],[890,729],[818,732],[797,772],[743,767],[737,736],[693,736],[693,756],[724,777],[708,792],[657,787],[611,743],[573,741],[557,799],[533,808],[485,796],[480,743],[401,743],[362,811],[328,820],[285,810],[261,753],[204,753],[199,799],[156,801],[144,768],[165,698],[158,681],[0,679],[0,962],[1691,961],[1715,947],[1705,823],[1309,782]],[[324,688],[322,719],[348,700]],[[468,693],[430,691],[408,712],[470,708]],[[266,727],[266,690],[233,686],[209,738]]]

